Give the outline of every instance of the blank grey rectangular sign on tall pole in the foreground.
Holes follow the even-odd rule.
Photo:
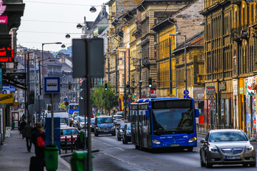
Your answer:
[[[79,38],[72,40],[72,63],[73,77],[85,78],[85,120],[89,118],[87,126],[88,153],[86,157],[85,168],[87,171],[92,170],[91,159],[91,101],[90,101],[90,84],[91,78],[104,78],[104,39],[103,38]],[[86,134],[86,126],[85,126]]]

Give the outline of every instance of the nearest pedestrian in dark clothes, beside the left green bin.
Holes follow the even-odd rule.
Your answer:
[[[36,123],[36,130],[32,133],[32,143],[35,146],[35,154],[36,154],[36,170],[44,171],[44,147],[38,147],[37,138],[40,137],[44,140],[46,139],[46,135],[42,130],[42,124]]]

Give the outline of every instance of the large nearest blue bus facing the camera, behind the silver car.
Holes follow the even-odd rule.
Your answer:
[[[132,142],[136,149],[197,146],[193,98],[146,98],[130,105]]]

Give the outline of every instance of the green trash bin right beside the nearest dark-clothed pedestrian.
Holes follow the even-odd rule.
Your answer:
[[[45,148],[46,170],[55,171],[58,169],[58,147],[47,145]]]

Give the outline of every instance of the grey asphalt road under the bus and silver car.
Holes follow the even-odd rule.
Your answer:
[[[214,165],[211,169],[201,167],[199,150],[203,135],[198,135],[198,147],[193,152],[186,150],[169,150],[148,152],[136,150],[135,145],[122,144],[116,136],[92,134],[92,148],[99,149],[94,152],[94,170],[257,170],[256,167],[243,167],[242,165]],[[257,142],[253,142],[257,147]],[[69,161],[69,157],[64,158]]]

